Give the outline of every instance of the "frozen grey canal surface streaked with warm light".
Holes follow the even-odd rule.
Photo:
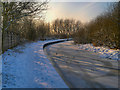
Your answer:
[[[118,61],[80,50],[72,41],[45,48],[48,58],[71,88],[118,88]]]

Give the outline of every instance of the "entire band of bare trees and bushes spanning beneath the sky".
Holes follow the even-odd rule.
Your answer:
[[[42,12],[47,10],[47,1],[3,2],[2,6],[3,42],[6,36],[9,36],[5,34],[11,32],[14,36],[20,37],[19,39],[24,38],[29,41],[73,38],[75,43],[92,43],[94,46],[120,49],[120,2],[110,4],[106,12],[84,25],[81,21],[70,18],[46,23],[41,18],[44,17]],[[2,43],[2,46],[4,51],[4,46],[7,45]],[[10,47],[12,46],[8,46]]]

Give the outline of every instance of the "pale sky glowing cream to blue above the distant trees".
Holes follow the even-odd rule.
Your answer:
[[[87,23],[105,12],[110,2],[50,2],[45,21],[70,18]]]

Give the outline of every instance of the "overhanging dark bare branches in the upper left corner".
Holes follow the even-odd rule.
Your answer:
[[[45,2],[3,2],[3,31],[7,30],[10,24],[25,16],[35,16],[47,9]]]

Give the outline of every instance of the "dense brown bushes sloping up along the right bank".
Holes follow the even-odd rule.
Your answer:
[[[120,49],[120,2],[110,4],[108,11],[79,29],[73,38],[75,43]]]

